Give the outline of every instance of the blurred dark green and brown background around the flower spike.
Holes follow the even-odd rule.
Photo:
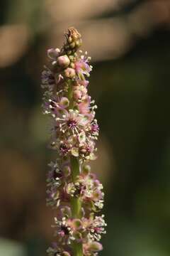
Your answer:
[[[1,0],[0,255],[43,256],[49,124],[41,114],[46,50],[75,26],[94,65],[101,127],[93,170],[108,222],[103,255],[170,255],[170,1]]]

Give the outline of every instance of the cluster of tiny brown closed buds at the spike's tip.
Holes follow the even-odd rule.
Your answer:
[[[72,55],[82,44],[81,34],[76,28],[69,28],[65,36],[67,41],[64,44],[64,52],[67,53],[67,55]]]

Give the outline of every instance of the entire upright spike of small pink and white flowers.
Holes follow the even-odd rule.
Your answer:
[[[96,105],[88,93],[92,66],[82,54],[81,34],[69,28],[61,49],[47,50],[48,65],[42,71],[43,113],[51,119],[50,148],[57,159],[49,164],[47,206],[56,211],[55,242],[48,256],[97,256],[105,234],[103,186],[91,172],[96,159],[99,127]]]

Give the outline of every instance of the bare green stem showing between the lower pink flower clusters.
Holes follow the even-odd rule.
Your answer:
[[[77,176],[79,175],[79,159],[71,156],[71,170],[72,170],[72,181],[75,182]],[[81,200],[80,198],[74,197],[71,201],[72,206],[72,217],[81,218]],[[74,256],[83,256],[83,247],[80,242],[72,242],[72,247],[74,251]]]

